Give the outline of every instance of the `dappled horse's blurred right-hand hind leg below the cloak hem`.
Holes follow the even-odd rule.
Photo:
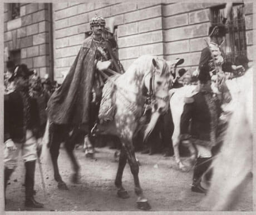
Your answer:
[[[71,159],[71,162],[73,164],[73,169],[75,171],[75,173],[73,173],[72,175],[72,178],[71,178],[71,181],[73,183],[78,183],[79,182],[79,165],[76,161],[76,158],[75,158],[75,155],[73,153],[73,149],[75,148],[75,138],[78,134],[78,130],[77,129],[74,129],[71,136],[67,138],[67,141],[65,142],[65,149],[66,149],[66,152],[68,154],[68,157],[70,157]]]

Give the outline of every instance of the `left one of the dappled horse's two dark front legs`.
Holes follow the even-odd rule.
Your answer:
[[[124,147],[121,147],[121,152],[120,152],[120,157],[119,157],[119,164],[118,164],[118,169],[116,173],[116,180],[115,180],[115,185],[118,188],[117,191],[117,196],[120,198],[129,198],[129,194],[125,190],[124,187],[122,187],[122,173],[124,172],[124,168],[127,162],[127,156],[125,153]]]

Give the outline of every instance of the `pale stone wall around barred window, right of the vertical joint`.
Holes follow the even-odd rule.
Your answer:
[[[163,6],[164,58],[184,58],[181,67],[194,71],[198,66],[200,52],[209,43],[210,7],[219,3],[175,3]],[[247,53],[253,59],[253,4],[245,3]]]

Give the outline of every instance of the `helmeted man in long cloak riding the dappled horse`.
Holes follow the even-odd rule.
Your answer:
[[[89,134],[89,138],[85,136],[86,154],[92,156],[90,130],[99,113],[104,85],[102,71],[108,68],[119,73],[123,71],[109,40],[102,37],[105,19],[95,16],[90,26],[92,35],[83,42],[61,87],[52,94],[47,109],[51,123],[75,126],[85,135]]]

